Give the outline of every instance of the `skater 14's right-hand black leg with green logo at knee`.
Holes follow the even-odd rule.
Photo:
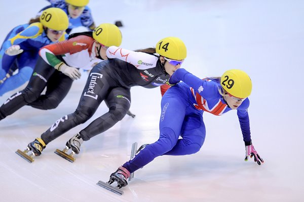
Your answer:
[[[105,102],[109,107],[109,111],[80,131],[79,134],[84,141],[108,130],[125,117],[131,104],[130,89],[123,87],[113,88],[107,95]]]

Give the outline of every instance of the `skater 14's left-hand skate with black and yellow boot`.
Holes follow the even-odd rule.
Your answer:
[[[45,142],[41,138],[36,138],[34,141],[30,142],[27,145],[27,148],[24,151],[18,149],[16,151],[16,154],[29,163],[32,163],[34,161],[33,157],[40,156],[45,147]],[[28,153],[30,153],[30,155]]]

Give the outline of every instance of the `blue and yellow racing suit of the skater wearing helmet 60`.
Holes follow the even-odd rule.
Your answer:
[[[63,34],[59,41],[64,40],[65,37],[67,37],[67,34]],[[0,96],[29,80],[40,48],[51,43],[54,42],[47,37],[40,22],[19,25],[9,32],[0,49],[0,79],[6,77],[12,66],[14,69],[11,71],[14,71],[17,67],[19,72],[7,78],[0,85]],[[23,49],[21,54],[16,56],[5,54],[7,48],[17,44],[20,46],[20,49]]]

